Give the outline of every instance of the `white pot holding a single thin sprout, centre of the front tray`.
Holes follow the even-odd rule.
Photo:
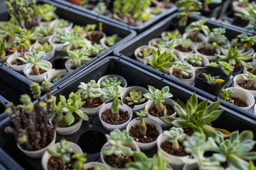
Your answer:
[[[159,123],[157,123],[155,120],[151,118],[144,118],[144,121],[146,125],[153,125],[154,127],[156,127],[156,130],[159,132],[159,135],[162,134],[163,131],[162,131],[161,125],[159,125]],[[127,131],[129,132],[132,126],[135,126],[135,125],[139,125],[139,118],[135,118],[134,120],[129,122],[129,124],[127,125]],[[142,142],[137,142],[135,140],[134,142],[139,146],[139,149],[142,149],[142,150],[149,150],[154,146],[156,146],[156,140],[150,143],[142,143]]]

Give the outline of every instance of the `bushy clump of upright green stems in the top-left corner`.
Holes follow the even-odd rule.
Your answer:
[[[35,0],[8,0],[6,1],[6,8],[9,15],[16,18],[21,28],[31,30],[39,26],[38,6],[36,6]]]

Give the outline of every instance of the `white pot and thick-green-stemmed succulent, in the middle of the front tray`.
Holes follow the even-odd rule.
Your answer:
[[[124,88],[122,86],[108,86],[102,89],[106,93],[104,103],[99,111],[99,118],[107,130],[124,129],[132,120],[132,110],[119,99]],[[108,103],[113,101],[112,103]]]

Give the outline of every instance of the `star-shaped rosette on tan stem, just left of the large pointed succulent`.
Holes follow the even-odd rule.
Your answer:
[[[143,96],[154,101],[156,110],[160,115],[166,115],[167,110],[163,104],[164,99],[171,98],[173,96],[169,93],[169,86],[165,86],[161,91],[159,89],[155,89],[154,86],[149,86],[149,92],[149,94],[144,94]]]

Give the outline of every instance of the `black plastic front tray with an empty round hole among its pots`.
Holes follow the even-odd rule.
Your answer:
[[[59,96],[61,94],[65,97],[68,97],[70,92],[78,91],[78,85],[80,85],[80,82],[87,83],[91,79],[95,79],[95,81],[97,81],[97,79],[100,79],[100,77],[107,74],[118,74],[124,77],[124,79],[127,80],[128,86],[143,86],[144,88],[147,88],[147,85],[151,85],[157,89],[161,89],[164,86],[169,86],[170,93],[174,95],[174,100],[180,98],[185,102],[193,94],[193,91],[188,91],[187,89],[178,86],[178,84],[166,81],[166,79],[158,77],[151,72],[142,69],[141,67],[131,64],[131,62],[120,59],[119,57],[106,57],[100,62],[94,64],[92,67],[88,67],[80,74],[75,75],[73,79],[70,79],[64,84],[61,84],[59,89],[53,89],[52,93],[55,96]],[[198,101],[206,101],[207,99],[200,95],[197,96]],[[213,101],[209,100],[208,103],[213,103]],[[223,106],[220,106],[220,109],[223,109],[224,113],[220,115],[218,120],[215,120],[212,123],[213,127],[225,128],[226,130],[230,131],[252,130],[256,137],[255,118],[247,118],[245,115],[238,114]],[[18,162],[18,164],[20,164],[23,169],[42,169],[41,159],[30,159],[18,150],[14,136],[4,132],[4,127],[6,127],[6,125],[9,125],[9,118],[6,118],[0,123],[0,149],[3,149],[6,154],[9,154],[9,156],[14,159],[14,161]],[[66,136],[57,135],[56,142],[62,138],[65,138],[71,142],[79,144],[81,141],[80,137],[85,137],[85,139],[82,141],[85,142],[85,145],[88,147],[87,149],[82,149],[83,152],[87,152],[87,162],[92,162],[97,161],[100,158],[100,149],[106,142],[104,136],[106,133],[109,133],[109,131],[103,128],[102,124],[100,123],[100,118],[98,115],[95,115],[90,117],[89,121],[84,121],[80,130],[75,132],[75,134]],[[151,157],[156,153],[156,150],[157,148],[154,147],[153,149],[145,151],[145,153]],[[21,166],[19,168],[21,168]],[[11,169],[17,170],[18,167],[12,167]]]

